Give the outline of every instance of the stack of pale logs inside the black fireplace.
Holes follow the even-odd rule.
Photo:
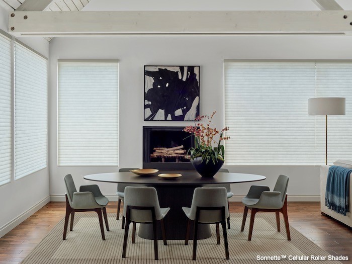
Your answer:
[[[154,152],[150,154],[150,158],[158,158],[161,162],[165,162],[165,159],[173,159],[176,162],[182,162],[183,160],[189,161],[190,156],[187,156],[187,151],[184,149],[184,145],[166,148],[166,147],[154,147]]]

